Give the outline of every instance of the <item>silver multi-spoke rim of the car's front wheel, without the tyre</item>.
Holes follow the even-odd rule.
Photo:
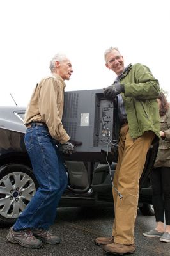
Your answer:
[[[35,192],[35,182],[26,173],[7,174],[0,180],[0,215],[9,219],[17,218]]]

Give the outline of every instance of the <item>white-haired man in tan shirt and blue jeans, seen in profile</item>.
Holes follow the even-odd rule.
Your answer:
[[[72,75],[72,64],[64,54],[56,54],[50,70],[51,74],[36,85],[24,117],[25,144],[39,188],[7,235],[11,243],[27,248],[40,248],[42,242],[59,243],[49,227],[68,179],[56,143],[67,154],[74,150],[61,122],[65,80]]]

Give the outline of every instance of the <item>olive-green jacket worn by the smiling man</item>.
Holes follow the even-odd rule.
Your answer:
[[[130,136],[138,138],[145,131],[153,131],[159,138],[158,80],[148,67],[137,63],[128,65],[120,83],[125,85],[125,93],[121,95],[127,111]]]

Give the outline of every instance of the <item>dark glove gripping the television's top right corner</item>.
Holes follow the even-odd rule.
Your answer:
[[[114,82],[114,84],[112,84],[111,86],[104,88],[104,97],[109,100],[114,100],[114,98],[121,92],[125,92],[124,84]]]

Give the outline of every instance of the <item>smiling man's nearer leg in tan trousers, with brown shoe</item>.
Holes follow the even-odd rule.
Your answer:
[[[134,227],[139,197],[139,179],[143,172],[146,154],[155,134],[144,132],[143,136],[133,140],[127,132],[117,188],[123,195],[117,195],[114,227],[114,243],[104,246],[104,251],[112,254],[134,253]]]

